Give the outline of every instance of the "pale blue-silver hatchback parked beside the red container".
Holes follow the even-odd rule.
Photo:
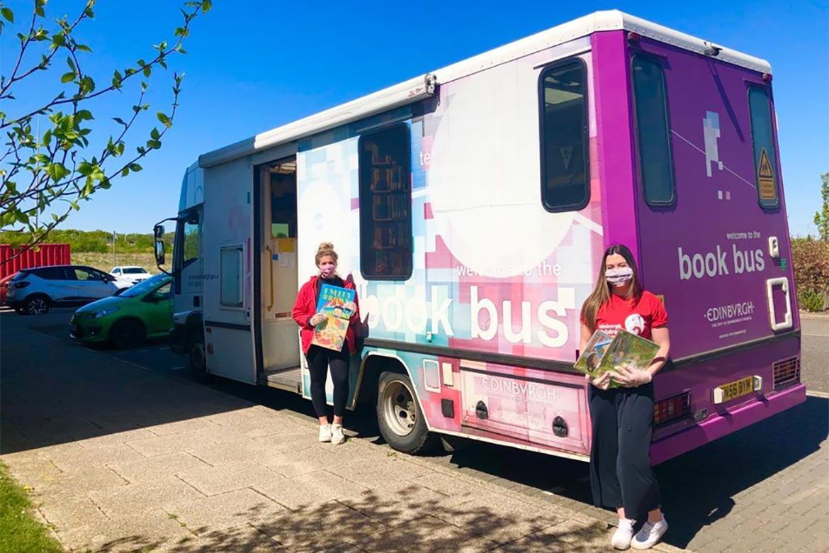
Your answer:
[[[9,282],[7,303],[26,315],[47,313],[62,305],[83,305],[111,296],[118,290],[115,279],[99,269],[83,265],[52,265],[23,269]]]

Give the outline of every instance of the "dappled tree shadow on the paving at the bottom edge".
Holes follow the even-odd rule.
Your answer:
[[[170,513],[192,536],[166,541],[128,536],[105,542],[96,551],[603,551],[607,530],[599,522],[510,513],[486,507],[468,494],[448,506],[450,497],[417,499],[416,485],[393,493],[364,492],[354,501],[332,501],[288,511],[267,497],[254,507],[230,513],[237,526],[210,531],[190,526]],[[246,523],[245,523],[246,522]],[[225,522],[226,524],[227,522]]]

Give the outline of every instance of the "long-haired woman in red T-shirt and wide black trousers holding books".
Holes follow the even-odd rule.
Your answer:
[[[593,332],[615,336],[620,329],[659,345],[647,370],[616,367],[599,378],[587,376],[593,445],[590,484],[597,507],[616,509],[619,525],[611,543],[616,549],[649,549],[662,539],[667,521],[662,516],[659,484],[651,470],[653,434],[653,376],[667,359],[671,342],[662,302],[639,284],[633,254],[624,245],[604,252],[596,287],[581,308],[581,347]],[[610,388],[610,381],[620,387]],[[633,536],[633,525],[647,516]]]

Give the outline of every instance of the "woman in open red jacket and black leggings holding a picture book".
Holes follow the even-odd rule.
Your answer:
[[[322,284],[331,284],[340,288],[355,289],[354,281],[349,278],[343,280],[337,276],[337,252],[331,242],[322,242],[315,256],[319,274],[315,274],[303,284],[297,294],[297,301],[293,304],[293,320],[300,328],[303,353],[308,359],[308,371],[311,373],[311,402],[319,417],[319,441],[342,444],[346,437],[342,434],[342,415],[346,410],[348,400],[348,366],[351,355],[356,353],[355,328],[360,321],[360,311],[354,293],[354,313],[346,332],[346,340],[342,344],[342,351],[335,352],[325,347],[311,344],[313,327],[325,320],[325,315],[317,313],[317,303]],[[325,381],[328,367],[331,367],[331,379],[334,384],[334,421],[328,425],[326,412]]]

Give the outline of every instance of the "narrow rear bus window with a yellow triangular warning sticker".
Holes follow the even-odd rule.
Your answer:
[[[749,86],[749,112],[751,114],[751,140],[754,143],[754,182],[761,207],[777,207],[778,179],[777,156],[774,153],[772,106],[768,91],[759,86]]]

